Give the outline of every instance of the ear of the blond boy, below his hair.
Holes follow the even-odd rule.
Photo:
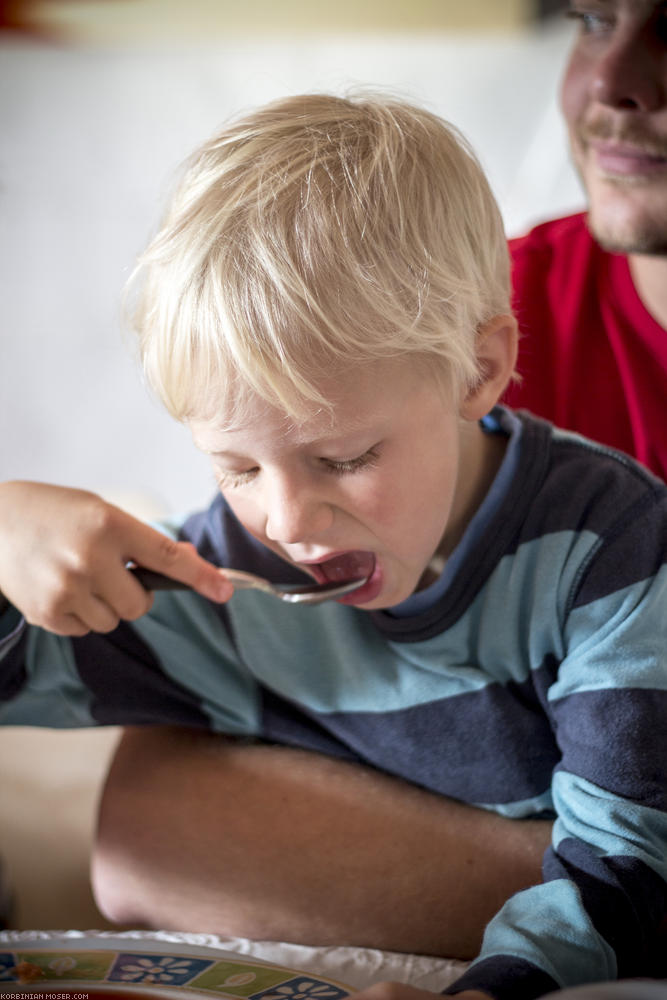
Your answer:
[[[496,405],[512,377],[518,342],[517,321],[509,314],[494,316],[479,328],[477,359],[481,376],[461,403],[460,415],[465,420],[481,420]]]

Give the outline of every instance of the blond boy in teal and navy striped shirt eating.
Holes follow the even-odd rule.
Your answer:
[[[220,496],[170,540],[88,494],[2,488],[2,721],[185,724],[555,817],[543,884],[447,992],[654,972],[667,491],[496,406],[517,329],[463,139],[384,99],[260,109],[193,159],[138,280],[149,380]],[[199,593],[152,602],[128,561]],[[365,583],[226,603],[211,564]]]

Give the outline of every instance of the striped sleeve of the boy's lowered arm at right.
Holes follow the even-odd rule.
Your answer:
[[[644,497],[581,567],[544,688],[561,753],[544,882],[503,907],[447,993],[532,1000],[651,968],[667,913],[666,524]]]

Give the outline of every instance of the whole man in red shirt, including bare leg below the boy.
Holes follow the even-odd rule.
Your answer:
[[[581,220],[563,224],[579,256],[569,267],[558,257],[553,283],[535,300],[525,288],[535,281],[541,290],[558,229],[532,237],[542,246],[538,278],[531,237],[515,247],[526,339],[524,385],[511,401],[634,450],[666,474],[667,5],[573,7],[581,27],[563,108],[595,237],[627,256],[602,254]],[[575,271],[586,255],[592,263]],[[614,265],[602,287],[600,259]],[[603,303],[593,328],[577,304],[613,298],[619,273],[633,307],[627,295],[622,308]],[[562,321],[552,328],[556,308]],[[616,325],[607,336],[609,315]],[[533,387],[532,357],[553,381]],[[134,731],[109,776],[94,880],[102,908],[123,922],[464,958],[499,902],[539,879],[548,836],[547,823],[505,821],[325,757]]]

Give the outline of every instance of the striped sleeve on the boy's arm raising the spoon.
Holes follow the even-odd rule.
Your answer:
[[[257,732],[256,684],[239,661],[224,609],[195,594],[157,595],[148,615],[108,635],[56,636],[26,625],[14,609],[3,624],[0,724]]]

